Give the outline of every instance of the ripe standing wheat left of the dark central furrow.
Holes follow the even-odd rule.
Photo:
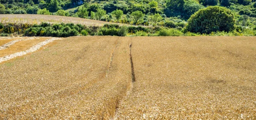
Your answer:
[[[130,85],[130,41],[87,36],[55,42],[0,64],[0,119],[114,117]]]

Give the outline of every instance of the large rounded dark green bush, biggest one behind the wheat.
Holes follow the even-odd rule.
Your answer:
[[[224,7],[209,6],[193,14],[186,29],[194,33],[211,33],[216,31],[232,31],[235,20],[232,12]]]

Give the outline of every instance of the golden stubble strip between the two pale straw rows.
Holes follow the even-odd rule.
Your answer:
[[[0,50],[0,57],[8,56],[13,53],[27,50],[30,47],[38,44],[39,42],[44,42],[47,39],[50,39],[50,37],[40,37],[39,39],[31,39],[31,40],[24,40],[24,41],[16,42],[14,45],[11,45],[10,47],[8,47],[4,50]]]

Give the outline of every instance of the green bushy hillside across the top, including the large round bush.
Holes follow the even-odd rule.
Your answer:
[[[215,11],[209,11],[212,6]],[[254,0],[0,0],[0,14],[81,17],[163,30],[174,28],[184,34],[236,32],[244,35],[249,31],[254,35],[256,30]],[[207,14],[212,17],[208,18]],[[226,15],[228,19],[211,22],[213,17]]]

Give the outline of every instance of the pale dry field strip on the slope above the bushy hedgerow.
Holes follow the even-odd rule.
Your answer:
[[[49,23],[74,23],[87,26],[103,26],[104,24],[118,24],[120,23],[105,22],[99,20],[83,19],[78,17],[64,17],[55,15],[40,15],[40,14],[1,14],[0,20],[2,23],[29,23],[41,24],[42,22]]]

